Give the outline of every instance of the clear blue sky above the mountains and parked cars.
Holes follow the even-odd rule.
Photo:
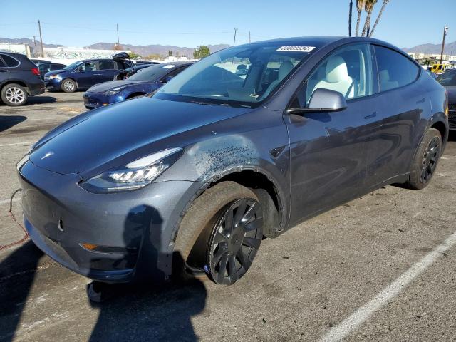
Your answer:
[[[354,1],[356,2],[356,1]],[[378,0],[375,21],[382,0]],[[38,38],[66,46],[116,41],[195,47],[289,36],[348,35],[348,0],[175,0],[175,1],[24,1],[0,0],[0,37]],[[423,3],[423,4],[419,4]],[[399,47],[440,43],[444,24],[447,41],[456,41],[455,0],[391,0],[375,38]],[[438,9],[438,10],[437,10]],[[445,10],[447,9],[447,10]],[[356,10],[353,10],[353,28]]]

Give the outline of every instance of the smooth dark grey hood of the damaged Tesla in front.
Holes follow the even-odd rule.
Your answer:
[[[68,120],[38,141],[29,159],[38,167],[61,174],[90,173],[103,167],[108,170],[157,149],[185,147],[185,141],[178,138],[172,144],[166,140],[165,146],[155,143],[249,110],[136,98]],[[124,160],[132,156],[135,158]]]

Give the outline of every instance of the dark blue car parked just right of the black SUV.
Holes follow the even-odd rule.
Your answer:
[[[73,93],[76,90],[88,89],[97,83],[110,81],[120,70],[130,67],[128,61],[86,59],[60,70],[49,71],[44,75],[44,84],[48,90]]]

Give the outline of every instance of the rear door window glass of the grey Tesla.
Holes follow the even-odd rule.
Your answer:
[[[390,48],[375,46],[375,56],[380,91],[406,86],[418,77],[420,68],[407,57]]]

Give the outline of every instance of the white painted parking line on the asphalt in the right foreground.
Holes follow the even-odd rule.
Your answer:
[[[418,275],[420,275],[427,267],[429,267],[435,260],[437,260],[443,252],[450,249],[456,244],[456,232],[450,235],[442,244],[435,247],[423,259],[414,264],[408,271],[399,276],[398,279],[385,287],[377,296],[371,301],[364,304],[356,310],[351,316],[346,318],[341,323],[331,328],[326,336],[320,339],[321,342],[336,342],[341,341],[343,338],[355,331],[362,323],[368,320],[372,314],[385,305],[388,301],[397,296],[405,286],[410,284]]]

